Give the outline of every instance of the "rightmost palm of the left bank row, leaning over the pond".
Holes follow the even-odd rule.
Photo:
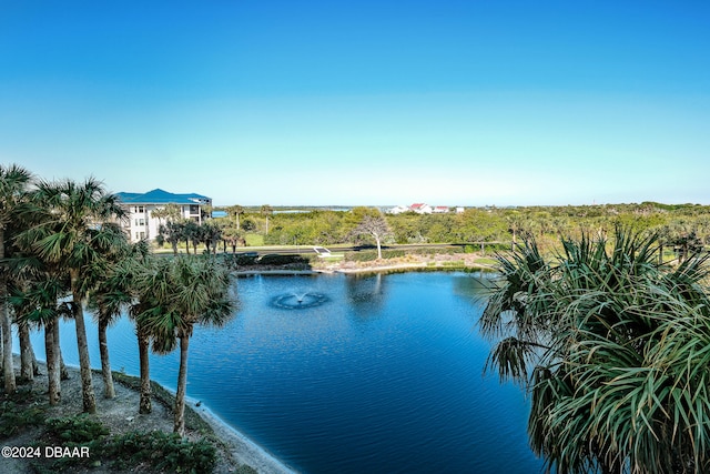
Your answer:
[[[229,271],[211,258],[155,261],[140,278],[144,301],[136,322],[150,334],[153,350],[166,353],[180,343],[180,371],[175,394],[174,432],[184,435],[187,349],[195,324],[223,325],[232,314]]]

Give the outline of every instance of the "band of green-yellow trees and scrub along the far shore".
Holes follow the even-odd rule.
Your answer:
[[[264,206],[263,206],[264,208]],[[311,210],[273,213],[235,205],[227,216],[211,222],[222,230],[224,248],[235,249],[250,234],[271,245],[334,245],[353,243],[353,231],[366,215],[381,215],[389,232],[383,243],[508,242],[534,235],[542,249],[559,246],[559,236],[582,233],[604,236],[616,226],[653,231],[659,243],[680,258],[710,244],[710,206],[655,202],[578,206],[469,208],[463,213],[387,214],[373,208],[348,211]],[[268,223],[268,225],[267,225]],[[184,240],[184,239],[183,239]]]

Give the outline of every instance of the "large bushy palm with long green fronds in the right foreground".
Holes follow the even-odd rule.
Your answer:
[[[550,260],[499,256],[487,367],[531,393],[534,451],[558,473],[708,472],[707,258],[659,265],[656,235],[586,235]]]

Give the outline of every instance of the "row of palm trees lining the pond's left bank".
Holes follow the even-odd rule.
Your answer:
[[[227,269],[210,255],[158,259],[145,242],[131,244],[120,226],[116,195],[95,179],[45,181],[17,164],[0,165],[0,329],[6,394],[17,391],[12,326],[20,342],[20,376],[38,374],[29,331],[44,333],[49,404],[61,402],[60,319],[77,331],[82,411],[95,413],[84,307],[98,323],[103,396],[115,396],[106,327],[123,314],[135,324],[140,413],[150,413],[149,350],[180,349],[174,432],[184,434],[187,349],[195,324],[222,325],[232,315]]]

